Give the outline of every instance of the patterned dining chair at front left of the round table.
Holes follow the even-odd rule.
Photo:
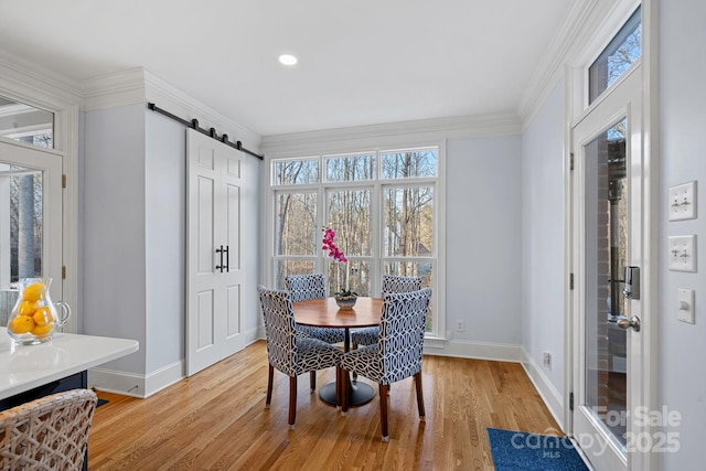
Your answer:
[[[341,385],[339,364],[343,352],[330,343],[306,338],[298,332],[290,291],[267,289],[263,285],[257,287],[257,291],[265,317],[269,363],[265,407],[269,408],[272,400],[272,379],[275,370],[278,370],[289,376],[289,428],[293,429],[297,418],[297,376],[335,367],[338,388]],[[339,390],[336,397],[341,397]]]

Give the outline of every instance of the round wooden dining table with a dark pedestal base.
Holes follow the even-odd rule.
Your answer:
[[[311,299],[292,303],[295,321],[302,325],[317,328],[344,329],[343,351],[351,349],[351,329],[379,325],[383,308],[382,298],[359,297],[351,309],[341,309],[334,298]],[[366,383],[346,381],[350,385],[350,406],[362,406],[373,399],[375,389]],[[324,385],[319,396],[325,403],[336,405],[335,383]]]

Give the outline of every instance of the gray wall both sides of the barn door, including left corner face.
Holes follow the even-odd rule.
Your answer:
[[[88,111],[82,122],[83,332],[140,342],[139,352],[106,370],[147,377],[180,368],[186,323],[185,128],[145,104]],[[259,279],[261,167],[245,158],[244,265],[253,288]],[[243,329],[254,339],[260,314],[256,291],[249,291]]]

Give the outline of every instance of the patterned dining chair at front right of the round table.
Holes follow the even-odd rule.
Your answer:
[[[384,295],[377,343],[344,353],[341,361],[343,378],[347,378],[347,373],[353,372],[379,385],[383,441],[389,440],[387,400],[389,400],[388,392],[392,383],[414,376],[419,418],[425,419],[421,355],[430,298],[430,288]],[[347,389],[347,387],[342,388],[343,414],[349,409]]]

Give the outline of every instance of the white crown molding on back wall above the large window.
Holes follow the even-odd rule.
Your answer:
[[[278,157],[388,146],[425,146],[445,139],[512,136],[522,131],[515,115],[457,116],[352,128],[265,136],[261,151]]]

